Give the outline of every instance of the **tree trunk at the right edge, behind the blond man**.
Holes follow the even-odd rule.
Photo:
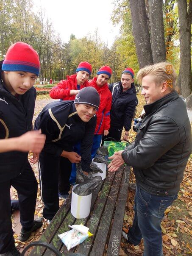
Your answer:
[[[191,14],[192,1],[189,3],[189,14]],[[181,60],[181,88],[184,98],[190,95],[192,90],[191,78],[191,43],[190,43],[190,26],[191,17],[187,13],[186,0],[178,0],[178,17],[179,17],[179,41],[180,41],[180,60]]]

